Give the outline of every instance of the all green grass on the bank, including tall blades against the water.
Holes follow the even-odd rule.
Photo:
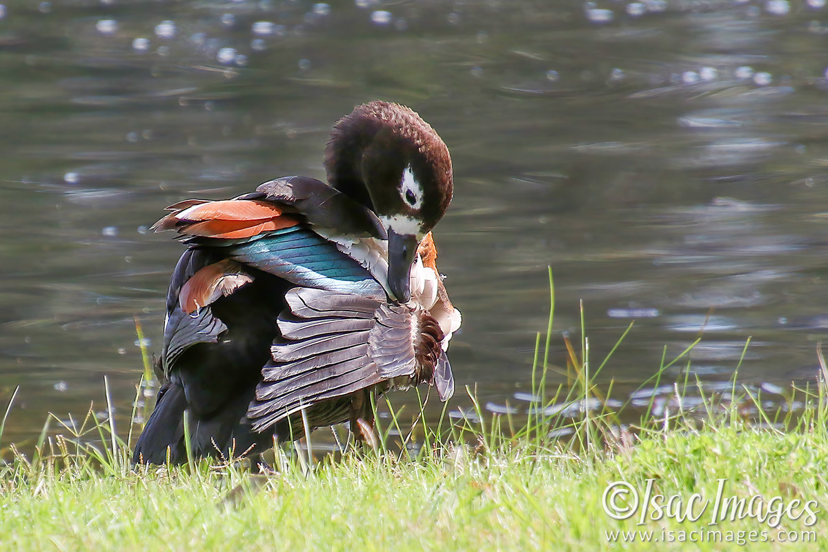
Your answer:
[[[617,409],[578,410],[606,405],[611,392],[594,383],[609,358],[590,369],[587,338],[580,352],[567,341],[569,384],[546,390],[551,319],[549,329],[537,337],[537,404],[522,423],[487,417],[467,390],[465,419],[444,410],[402,424],[391,409],[372,446],[336,458],[307,442],[277,449],[271,476],[195,458],[135,472],[132,436],[119,439],[108,421],[87,415],[65,425],[66,436],[47,424],[34,454],[10,445],[0,466],[2,550],[828,550],[824,383],[794,391],[807,404],[794,416],[766,412],[735,378],[728,396],[705,396],[684,376],[672,411],[623,425]],[[685,353],[665,359],[650,384]],[[682,406],[694,389],[698,406]],[[561,415],[561,406],[580,413]],[[622,487],[606,491],[619,481],[640,497],[626,520],[603,506],[630,503],[613,495]],[[663,498],[637,525],[647,487]],[[720,511],[737,519],[711,525],[719,491]],[[687,513],[699,517],[681,521]],[[661,542],[644,533],[611,542],[619,530]],[[782,545],[780,536],[807,542]]]

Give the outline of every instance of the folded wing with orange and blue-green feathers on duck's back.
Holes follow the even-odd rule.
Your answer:
[[[216,316],[214,303],[262,273],[296,286],[386,297],[368,270],[312,229],[328,220],[332,231],[373,236],[382,224],[320,180],[272,180],[236,199],[187,199],[167,209],[171,213],[153,228],[174,230],[190,244],[173,271],[167,296],[161,353],[167,374],[187,348],[219,342],[228,321]]]

